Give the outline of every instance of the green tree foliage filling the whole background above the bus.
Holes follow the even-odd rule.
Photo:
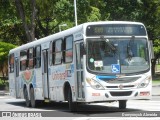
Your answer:
[[[0,0],[0,41],[25,44],[75,26],[73,0]],[[159,58],[159,0],[77,0],[78,24],[89,21],[139,21],[145,24]],[[154,59],[154,62],[156,61]]]

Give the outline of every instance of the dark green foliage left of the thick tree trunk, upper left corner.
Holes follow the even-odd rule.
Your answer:
[[[0,41],[23,44],[26,38],[14,2],[0,0]]]

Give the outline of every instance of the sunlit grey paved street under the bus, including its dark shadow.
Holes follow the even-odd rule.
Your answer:
[[[65,120],[109,120],[108,117],[115,117],[115,119],[122,117],[123,114],[134,114],[141,112],[159,112],[160,111],[160,87],[155,85],[153,87],[153,96],[152,100],[129,100],[127,101],[127,109],[120,110],[118,108],[118,102],[113,103],[95,103],[87,105],[79,105],[78,112],[71,113],[68,111],[67,103],[49,103],[43,104],[38,108],[27,108],[25,107],[24,100],[15,99],[7,93],[0,95],[0,111],[31,111],[31,112],[45,112],[45,116],[58,117],[59,120],[61,117],[66,117]],[[1,91],[2,93],[2,91]],[[95,119],[95,117],[99,117]],[[102,117],[107,117],[103,119]],[[49,119],[49,118],[48,118]],[[53,118],[52,118],[53,119]],[[57,120],[56,119],[56,120]],[[113,118],[114,119],[114,118]],[[115,120],[114,119],[114,120]],[[153,118],[152,120],[159,120],[160,118]],[[38,119],[40,120],[40,119]],[[123,120],[119,118],[119,120]],[[127,119],[125,117],[124,120]],[[139,119],[136,119],[139,120]],[[148,119],[149,120],[149,119]]]

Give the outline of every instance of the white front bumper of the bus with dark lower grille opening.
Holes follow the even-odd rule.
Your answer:
[[[89,87],[87,88],[86,93],[88,94],[85,95],[85,102],[105,102],[134,99],[150,100],[152,98],[152,92],[150,88],[128,90],[94,90]]]

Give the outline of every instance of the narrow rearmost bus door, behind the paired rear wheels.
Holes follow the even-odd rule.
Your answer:
[[[19,79],[19,59],[15,58],[15,91],[16,91],[16,98],[20,97],[20,79]]]

